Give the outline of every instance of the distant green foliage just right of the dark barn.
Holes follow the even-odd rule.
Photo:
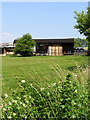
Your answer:
[[[88,45],[87,39],[80,39],[80,38],[74,39],[74,47],[82,47],[87,45]]]

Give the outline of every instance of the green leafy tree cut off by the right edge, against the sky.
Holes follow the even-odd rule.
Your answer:
[[[86,36],[89,46],[88,50],[90,51],[90,7],[87,8],[86,13],[84,13],[84,11],[81,13],[74,11],[74,13],[76,14],[74,18],[77,21],[77,24],[74,26],[74,28],[78,29],[80,34],[84,34]]]

